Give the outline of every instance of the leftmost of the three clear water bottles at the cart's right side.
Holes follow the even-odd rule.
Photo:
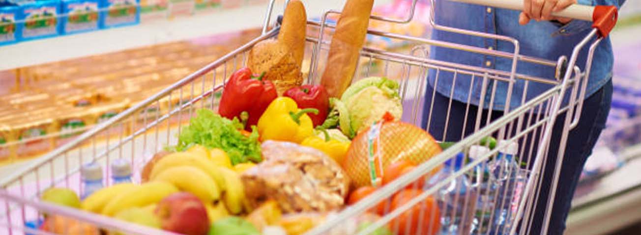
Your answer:
[[[429,185],[438,184],[463,166],[465,155],[445,161],[445,166],[428,181]],[[438,191],[437,199],[441,209],[441,234],[470,234],[470,227],[476,212],[476,190],[471,188],[467,175],[453,179]]]

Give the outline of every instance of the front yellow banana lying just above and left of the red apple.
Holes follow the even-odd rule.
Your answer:
[[[156,204],[176,192],[178,192],[178,188],[169,182],[146,182],[114,197],[104,206],[102,214],[113,216],[123,209]]]

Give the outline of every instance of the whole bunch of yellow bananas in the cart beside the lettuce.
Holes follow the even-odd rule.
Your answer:
[[[92,193],[81,207],[87,211],[114,216],[131,207],[154,207],[178,191],[190,192],[203,201],[210,220],[246,211],[245,191],[240,171],[252,163],[233,167],[220,149],[196,145],[185,152],[162,156],[153,164],[149,181],[142,184],[115,184]]]

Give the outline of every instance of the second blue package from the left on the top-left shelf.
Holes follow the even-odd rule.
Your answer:
[[[17,4],[21,8],[21,19],[25,20],[21,40],[60,35],[59,0],[18,1]]]

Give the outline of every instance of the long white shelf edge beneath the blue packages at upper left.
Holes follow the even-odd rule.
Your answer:
[[[304,0],[308,17],[318,17],[330,9],[342,8],[345,0]],[[283,12],[284,1],[274,6],[276,14]],[[377,0],[376,4],[391,0]],[[121,51],[146,45],[187,40],[199,36],[256,28],[263,24],[267,4],[198,13],[172,20],[143,22],[136,26],[112,28],[76,35],[21,42],[0,47],[0,70],[15,69],[40,63],[67,60],[94,54]]]

